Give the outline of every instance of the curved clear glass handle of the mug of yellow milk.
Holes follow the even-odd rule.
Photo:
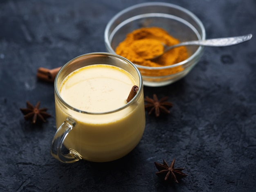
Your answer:
[[[51,154],[52,156],[54,156],[55,159],[58,159],[58,161],[61,161],[63,163],[74,163],[82,159],[81,155],[73,149],[70,149],[70,152],[68,154],[63,154],[61,152],[61,148],[67,134],[69,134],[69,132],[74,128],[75,125],[76,121],[74,121],[70,117],[67,117],[66,121],[64,121],[56,131],[52,140]]]

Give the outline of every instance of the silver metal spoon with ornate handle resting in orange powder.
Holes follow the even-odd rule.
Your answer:
[[[173,45],[173,46],[164,45],[164,51],[163,51],[162,54],[166,53],[166,51],[169,51],[170,49],[173,49],[174,47],[188,46],[188,45],[203,45],[203,46],[209,46],[209,47],[225,47],[225,46],[236,45],[236,44],[248,41],[251,38],[252,38],[252,34],[247,34],[247,35],[236,36],[236,37],[186,41],[186,42],[181,42],[181,43]],[[155,56],[153,58],[148,58],[148,59],[158,58],[162,54],[160,54],[158,56]]]

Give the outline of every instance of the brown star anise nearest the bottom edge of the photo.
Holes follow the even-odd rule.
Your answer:
[[[167,179],[171,179],[171,181],[175,181],[176,183],[179,183],[178,180],[182,179],[187,174],[184,174],[182,170],[185,168],[174,168],[175,159],[173,159],[173,162],[171,163],[170,167],[166,163],[165,160],[164,164],[160,164],[155,162],[155,167],[157,167],[159,172],[156,172],[157,176],[164,177],[164,181],[167,181]]]

